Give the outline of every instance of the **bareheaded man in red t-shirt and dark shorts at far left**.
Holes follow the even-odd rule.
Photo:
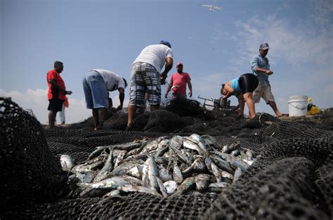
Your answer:
[[[63,63],[60,61],[54,62],[54,69],[48,71],[46,80],[48,84],[48,125],[54,127],[55,116],[57,112],[63,109],[63,102],[66,95],[71,95],[71,91],[67,91],[65,82],[61,78],[60,73],[63,71]]]

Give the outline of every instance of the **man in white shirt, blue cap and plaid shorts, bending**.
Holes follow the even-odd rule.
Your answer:
[[[150,111],[159,109],[161,84],[174,64],[174,54],[168,41],[146,46],[136,57],[131,69],[131,88],[129,95],[129,118],[126,130],[131,130],[137,107],[145,106],[145,93],[148,94]],[[164,66],[164,71],[162,67]]]

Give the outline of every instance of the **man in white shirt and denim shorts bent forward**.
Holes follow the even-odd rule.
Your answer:
[[[94,130],[98,130],[98,110],[102,116],[101,124],[107,119],[109,108],[109,92],[118,90],[120,105],[117,110],[122,109],[125,98],[126,80],[114,72],[106,69],[91,69],[83,78],[84,96],[86,97],[86,108],[93,111]]]

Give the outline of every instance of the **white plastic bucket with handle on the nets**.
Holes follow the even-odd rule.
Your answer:
[[[293,95],[288,99],[289,117],[306,116],[308,106],[307,95]]]

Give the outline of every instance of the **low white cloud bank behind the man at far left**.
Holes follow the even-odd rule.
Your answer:
[[[37,117],[41,124],[48,123],[48,99],[47,90],[26,90],[25,92],[18,91],[5,91],[0,89],[1,97],[11,97],[13,102],[16,102],[22,109],[32,109],[34,115]],[[86,109],[84,99],[78,100],[75,98],[68,98],[70,103],[69,108],[65,109],[66,123],[77,123],[84,121],[84,119],[91,116],[91,110]],[[59,116],[56,118],[57,122],[60,121]]]

